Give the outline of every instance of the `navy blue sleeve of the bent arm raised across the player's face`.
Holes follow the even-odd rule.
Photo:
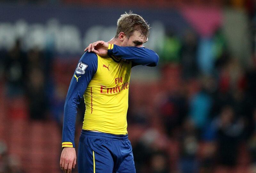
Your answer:
[[[159,61],[156,52],[145,47],[123,47],[114,44],[113,49],[108,49],[108,55],[132,61],[132,66],[143,65],[155,67]]]

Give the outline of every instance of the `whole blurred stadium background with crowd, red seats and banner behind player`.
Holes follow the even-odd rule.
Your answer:
[[[0,1],[0,173],[61,172],[76,63],[88,43],[110,40],[129,10],[152,27],[145,46],[160,57],[157,67],[132,69],[127,120],[137,172],[256,172],[255,5]],[[83,112],[80,105],[76,142]]]

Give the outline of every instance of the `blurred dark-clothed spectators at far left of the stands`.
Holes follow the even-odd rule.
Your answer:
[[[11,50],[2,50],[0,54],[5,95],[10,100],[27,98],[28,116],[32,119],[45,119],[51,99],[47,97],[51,55],[38,51],[36,47],[24,52],[20,40],[16,41]]]

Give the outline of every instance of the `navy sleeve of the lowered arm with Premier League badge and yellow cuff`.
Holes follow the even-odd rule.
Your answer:
[[[64,106],[62,147],[75,147],[75,125],[77,106],[84,95],[84,92],[96,73],[98,67],[98,58],[94,53],[88,51],[79,60],[75,73],[72,76],[68,94]],[[72,143],[72,144],[71,144]]]

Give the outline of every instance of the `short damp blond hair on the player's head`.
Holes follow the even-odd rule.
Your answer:
[[[148,23],[138,14],[133,14],[132,11],[129,13],[125,12],[117,20],[117,29],[115,38],[118,39],[120,32],[124,32],[126,37],[129,39],[134,31],[139,31],[141,35],[148,38],[149,35]]]

